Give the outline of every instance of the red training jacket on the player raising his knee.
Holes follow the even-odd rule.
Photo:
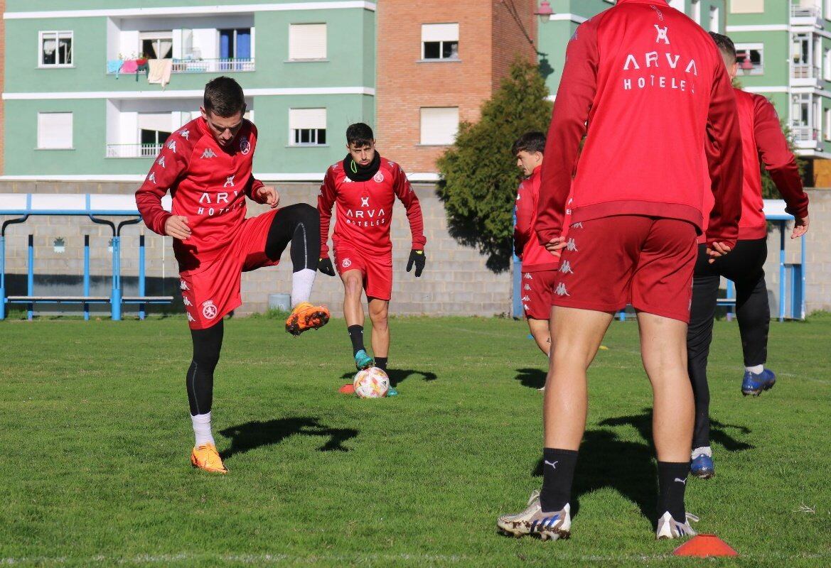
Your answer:
[[[190,237],[173,240],[179,265],[209,262],[231,242],[245,218],[245,197],[263,186],[251,174],[257,128],[248,120],[229,149],[222,149],[201,117],[170,135],[156,157],[145,183],[135,192],[145,224],[165,234],[170,215],[188,218]],[[170,191],[172,213],[161,206]]]

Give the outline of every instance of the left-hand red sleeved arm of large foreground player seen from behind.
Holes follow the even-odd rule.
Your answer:
[[[548,126],[534,231],[540,244],[551,252],[565,246],[562,235],[566,202],[597,92],[597,20],[595,17],[580,24],[568,42],[563,78]]]

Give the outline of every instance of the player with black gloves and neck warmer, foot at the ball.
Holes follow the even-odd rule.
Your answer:
[[[335,276],[330,260],[329,223],[337,203],[337,221],[332,234],[335,265],[343,281],[343,314],[352,340],[352,355],[358,370],[376,365],[386,371],[390,349],[388,314],[392,294],[392,242],[390,223],[396,197],[407,212],[412,249],[407,272],[416,267],[416,277],[425,267],[424,221],[421,206],[401,166],[381,158],[375,149],[372,129],[363,123],[347,128],[349,153],[327,169],[317,198],[320,213],[321,259],[319,270]],[[372,352],[363,341],[364,312],[361,292],[366,292],[372,321]],[[396,394],[392,389],[390,394]]]

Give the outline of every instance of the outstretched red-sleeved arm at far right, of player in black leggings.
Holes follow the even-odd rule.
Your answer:
[[[808,194],[802,187],[796,156],[779,125],[779,115],[763,96],[754,97],[754,133],[762,163],[787,204],[785,211],[796,219],[792,238],[801,237],[808,231]]]

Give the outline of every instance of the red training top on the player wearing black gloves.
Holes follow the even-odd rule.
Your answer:
[[[320,194],[317,211],[320,212],[320,254],[329,254],[329,223],[332,205],[337,203],[337,222],[332,242],[343,240],[371,255],[392,251],[390,223],[396,197],[401,199],[410,222],[412,247],[422,250],[427,242],[421,205],[401,166],[381,158],[381,167],[375,177],[366,182],[353,182],[343,171],[343,161],[329,166]]]

